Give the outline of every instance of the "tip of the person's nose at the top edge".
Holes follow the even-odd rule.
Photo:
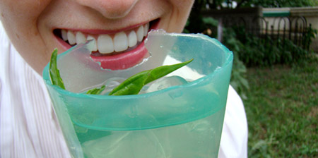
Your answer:
[[[105,18],[122,18],[131,8],[134,8],[137,0],[77,0],[79,4],[93,8],[105,16]]]

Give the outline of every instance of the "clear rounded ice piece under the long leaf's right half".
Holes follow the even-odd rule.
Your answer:
[[[158,90],[163,90],[167,87],[172,87],[175,85],[184,85],[188,83],[187,80],[181,78],[177,75],[172,75],[170,77],[163,77],[158,80],[155,80],[153,83],[149,83],[141,90],[140,94],[148,93],[148,92],[155,92]]]

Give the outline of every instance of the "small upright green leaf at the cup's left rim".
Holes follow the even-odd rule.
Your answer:
[[[51,60],[49,61],[49,78],[51,79],[52,85],[57,85],[65,90],[63,80],[57,68],[57,49],[54,49]]]

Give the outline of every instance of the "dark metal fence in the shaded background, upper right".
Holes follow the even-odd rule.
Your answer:
[[[310,41],[307,32],[311,30],[311,24],[307,24],[305,17],[237,17],[223,16],[219,18],[221,25],[225,27],[239,26],[252,35],[266,39],[281,38],[283,43],[289,39],[294,44],[309,49]]]

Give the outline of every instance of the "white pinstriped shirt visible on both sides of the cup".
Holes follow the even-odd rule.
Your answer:
[[[18,54],[0,23],[1,157],[70,157],[42,76]],[[247,157],[247,119],[230,86],[218,157]]]

